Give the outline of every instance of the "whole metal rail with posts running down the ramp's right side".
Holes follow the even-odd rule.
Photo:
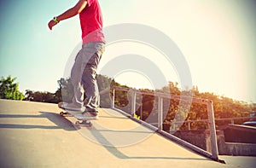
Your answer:
[[[147,95],[147,96],[155,96],[158,97],[158,130],[159,132],[162,132],[163,134],[166,135],[166,132],[162,130],[162,125],[163,125],[163,99],[180,99],[182,101],[191,101],[193,100],[194,102],[202,103],[207,105],[207,112],[208,112],[208,119],[206,121],[208,122],[208,128],[210,130],[210,139],[211,139],[211,146],[212,146],[212,154],[209,154],[207,151],[197,148],[192,144],[188,145],[188,142],[184,142],[183,140],[172,136],[171,134],[168,134],[168,136],[171,136],[172,139],[175,139],[176,141],[179,141],[183,143],[183,145],[194,149],[196,152],[199,152],[207,157],[210,157],[211,159],[218,160],[218,145],[217,145],[217,136],[216,136],[216,128],[215,128],[215,119],[214,119],[214,112],[213,112],[213,104],[211,100],[208,99],[200,99],[200,98],[195,98],[195,97],[190,97],[190,96],[177,96],[177,95],[172,95],[172,94],[166,94],[166,93],[160,93],[160,92],[149,92],[149,91],[143,91],[143,90],[135,90],[135,89],[128,89],[128,88],[121,88],[121,87],[113,87],[112,91],[112,103],[111,107],[115,108],[114,106],[114,100],[115,100],[115,90],[123,90],[123,91],[129,91],[131,93],[131,118],[134,118],[134,114],[136,111],[136,97],[137,94],[142,94],[142,95]],[[116,109],[116,108],[115,108]],[[135,119],[137,120],[137,119]],[[143,123],[142,120],[140,120],[141,123]],[[145,124],[148,125],[148,124]],[[150,126],[151,127],[151,126]]]

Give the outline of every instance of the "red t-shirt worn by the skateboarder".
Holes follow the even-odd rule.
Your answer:
[[[79,14],[82,29],[83,44],[90,42],[103,42],[102,10],[98,0],[87,0],[87,5]]]

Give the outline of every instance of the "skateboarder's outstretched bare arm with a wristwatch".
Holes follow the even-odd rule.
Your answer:
[[[80,12],[82,12],[82,10],[85,8],[86,5],[87,5],[87,0],[79,0],[79,3],[77,3],[73,8],[68,9],[63,14],[60,14],[59,16],[57,16],[56,20],[57,21],[67,20],[68,18],[71,18],[79,14]],[[55,26],[56,24],[57,22],[55,22],[55,20],[50,20],[48,23],[49,30],[52,30],[52,27]]]

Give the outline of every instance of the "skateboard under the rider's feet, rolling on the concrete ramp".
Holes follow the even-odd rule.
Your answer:
[[[77,126],[88,126],[91,127],[92,123],[90,122],[90,119],[84,119],[81,116],[78,116],[77,114],[81,113],[80,111],[72,111],[72,110],[67,110],[65,107],[61,107],[61,104],[58,104],[58,107],[61,108],[61,110],[64,110],[60,113],[62,117],[74,117],[77,119],[77,121],[74,123]]]

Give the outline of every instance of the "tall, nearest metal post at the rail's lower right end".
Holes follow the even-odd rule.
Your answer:
[[[215,128],[212,101],[207,102],[207,111],[208,111],[208,117],[209,117],[209,129],[210,129],[210,138],[211,138],[211,146],[212,146],[212,159],[218,160],[218,142],[217,142],[217,136],[216,136],[216,128]]]

